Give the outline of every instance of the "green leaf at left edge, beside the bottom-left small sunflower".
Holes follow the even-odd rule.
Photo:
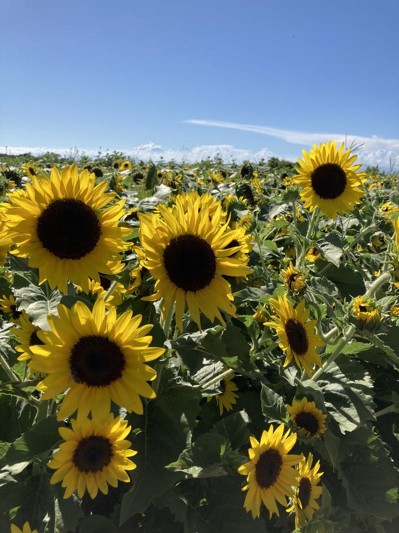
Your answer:
[[[13,474],[22,472],[29,463],[40,455],[47,455],[62,439],[58,428],[63,425],[55,417],[48,417],[35,424],[10,445],[0,460],[0,468]]]

